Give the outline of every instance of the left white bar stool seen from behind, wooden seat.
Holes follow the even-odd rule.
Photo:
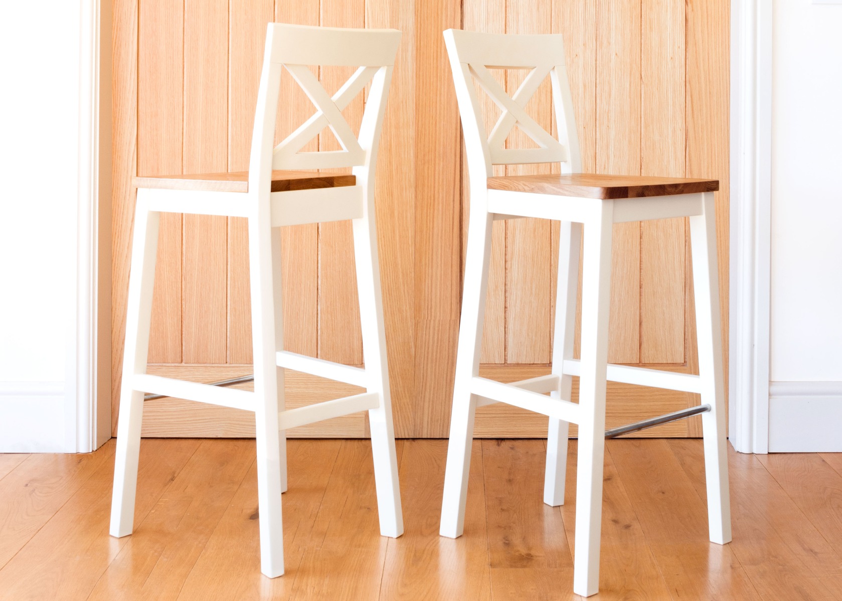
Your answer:
[[[400,39],[401,32],[395,29],[269,24],[248,173],[135,179],[138,191],[111,535],[125,536],[132,531],[144,393],[254,412],[260,565],[266,576],[284,573],[280,495],[286,489],[284,431],[289,428],[368,410],[381,534],[402,535],[374,206],[377,145]],[[308,66],[312,65],[359,68],[331,98],[310,71]],[[304,89],[317,112],[273,150],[280,76],[284,69]],[[358,140],[341,111],[369,82]],[[301,152],[325,126],[333,130],[344,150]],[[353,175],[273,171],[333,167],[353,167]],[[253,393],[147,374],[152,284],[162,211],[248,218]],[[353,220],[365,369],[284,351],[278,227],[340,219]],[[365,387],[366,392],[284,410],[284,367]]]

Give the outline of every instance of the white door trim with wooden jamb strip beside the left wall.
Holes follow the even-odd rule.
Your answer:
[[[64,405],[67,452],[111,437],[111,3],[80,3],[75,299]]]

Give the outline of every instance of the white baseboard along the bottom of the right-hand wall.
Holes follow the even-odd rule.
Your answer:
[[[769,452],[842,452],[842,382],[770,382]]]

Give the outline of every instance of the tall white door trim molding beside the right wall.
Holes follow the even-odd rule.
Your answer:
[[[769,450],[772,2],[731,3],[729,439]]]

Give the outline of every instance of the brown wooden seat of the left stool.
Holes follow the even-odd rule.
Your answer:
[[[318,171],[272,171],[272,192],[310,190],[317,187],[354,186],[357,178],[341,173]],[[135,177],[135,187],[202,192],[248,192],[248,171],[198,173],[184,176]]]

